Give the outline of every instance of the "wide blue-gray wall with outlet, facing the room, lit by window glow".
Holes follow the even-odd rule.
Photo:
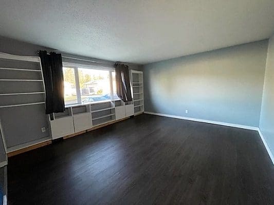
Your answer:
[[[258,127],[267,45],[262,40],[145,65],[145,111]]]

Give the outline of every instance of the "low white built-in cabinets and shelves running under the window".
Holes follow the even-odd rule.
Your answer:
[[[128,104],[128,105],[126,105]],[[120,99],[71,105],[63,113],[50,115],[52,139],[72,135],[134,115],[132,102]]]

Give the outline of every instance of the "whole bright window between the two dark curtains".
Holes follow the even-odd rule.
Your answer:
[[[64,67],[63,72],[66,105],[119,99],[111,70]]]

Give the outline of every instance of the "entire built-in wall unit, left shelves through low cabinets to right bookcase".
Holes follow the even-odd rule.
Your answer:
[[[40,57],[0,53],[0,76],[0,131],[6,153],[143,112],[141,71],[131,70],[130,102],[113,99],[70,105],[63,113],[44,116],[45,85]]]

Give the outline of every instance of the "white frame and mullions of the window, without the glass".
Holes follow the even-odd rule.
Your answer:
[[[113,91],[113,75],[112,73],[115,72],[114,68],[111,67],[104,67],[104,68],[96,68],[92,66],[84,66],[84,65],[72,65],[69,63],[63,63],[63,68],[71,68],[74,69],[74,77],[75,77],[75,88],[76,88],[76,96],[77,96],[77,103],[72,103],[72,104],[66,104],[65,101],[65,106],[74,106],[74,105],[83,105],[82,102],[82,97],[81,97],[81,88],[80,88],[80,79],[79,79],[79,68],[81,69],[91,69],[91,70],[107,70],[109,74],[109,95],[111,96],[110,100],[114,100],[114,91]],[[101,100],[104,101],[104,100]],[[100,103],[100,101],[96,102]],[[86,104],[92,104],[92,103],[86,103]]]

